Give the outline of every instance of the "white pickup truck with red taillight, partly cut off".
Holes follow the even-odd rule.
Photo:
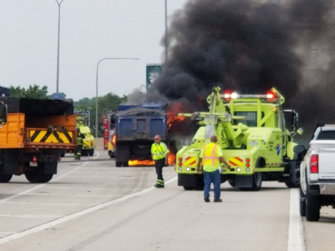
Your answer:
[[[335,208],[335,124],[318,126],[300,164],[300,215],[319,221],[321,206]]]

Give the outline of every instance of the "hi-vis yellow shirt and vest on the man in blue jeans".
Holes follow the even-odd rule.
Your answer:
[[[200,152],[202,158],[202,169],[206,172],[214,172],[220,168],[220,159],[222,155],[221,147],[215,143],[209,143]]]

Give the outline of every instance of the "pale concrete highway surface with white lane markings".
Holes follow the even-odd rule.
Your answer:
[[[0,184],[0,250],[334,250],[335,210],[298,216],[298,190],[263,182],[259,192],[222,184],[222,203],[177,186],[165,167],[115,167],[107,153],[65,157],[47,184]],[[100,160],[100,161],[96,161]],[[213,192],[211,191],[211,200]]]

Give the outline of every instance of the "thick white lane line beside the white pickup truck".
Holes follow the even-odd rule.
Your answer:
[[[290,191],[287,251],[305,251],[303,222],[299,214],[298,188],[291,188]]]

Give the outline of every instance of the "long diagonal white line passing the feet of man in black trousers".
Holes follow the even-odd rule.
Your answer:
[[[165,182],[165,184],[169,184],[173,181],[177,180],[177,176],[170,179],[170,180],[167,180]],[[82,211],[79,211],[77,213],[74,213],[74,214],[71,214],[71,215],[68,215],[68,216],[65,216],[65,217],[62,217],[60,219],[57,219],[57,220],[54,220],[54,221],[51,221],[51,222],[48,222],[48,223],[45,223],[45,224],[42,224],[40,226],[37,226],[37,227],[34,227],[34,228],[31,228],[31,229],[28,229],[28,230],[25,230],[25,231],[22,231],[22,232],[19,232],[19,233],[16,233],[16,234],[12,234],[12,235],[8,235],[6,237],[3,237],[3,238],[0,238],[0,244],[1,243],[5,243],[7,241],[11,241],[11,240],[15,240],[15,239],[18,239],[18,238],[21,238],[23,236],[26,236],[26,235],[29,235],[29,234],[32,234],[32,233],[36,233],[38,231],[41,231],[41,230],[44,230],[44,229],[47,229],[47,228],[50,228],[50,227],[53,227],[55,225],[58,225],[58,224],[61,224],[61,223],[64,223],[64,222],[67,222],[69,220],[72,220],[72,219],[75,219],[77,217],[80,217],[80,216],[83,216],[83,215],[86,215],[88,213],[91,213],[91,212],[94,212],[96,210],[99,210],[101,208],[104,208],[106,206],[110,206],[110,205],[113,205],[113,204],[116,204],[118,202],[121,202],[121,201],[124,201],[124,200],[127,200],[129,198],[133,198],[133,197],[136,197],[138,195],[141,195],[143,193],[147,193],[147,192],[150,192],[154,189],[160,189],[160,188],[155,188],[153,186],[149,187],[149,188],[146,188],[142,191],[138,191],[136,193],[131,193],[131,194],[128,194],[126,196],[123,196],[121,198],[118,198],[118,199],[114,199],[114,200],[110,200],[110,201],[107,201],[105,203],[102,203],[102,204],[99,204],[99,205],[96,205],[96,206],[92,206],[90,208],[87,208],[87,209],[84,209]]]

